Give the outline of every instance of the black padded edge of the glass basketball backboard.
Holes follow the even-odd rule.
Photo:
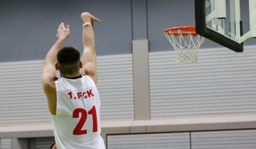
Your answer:
[[[205,0],[195,0],[195,23],[196,33],[206,37],[220,45],[223,45],[235,52],[243,52],[243,44],[224,36],[223,34],[210,29],[206,25],[206,2]],[[240,26],[241,27],[241,26]],[[240,32],[242,29],[240,28]]]

